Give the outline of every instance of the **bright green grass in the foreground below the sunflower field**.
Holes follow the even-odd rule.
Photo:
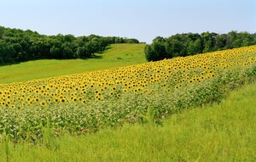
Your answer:
[[[0,161],[255,161],[256,83],[222,103],[187,109],[163,126],[125,125],[37,146],[2,142]]]

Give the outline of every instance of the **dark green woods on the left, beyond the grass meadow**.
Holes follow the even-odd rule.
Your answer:
[[[139,43],[134,38],[119,36],[56,36],[36,31],[0,26],[0,64],[13,64],[35,59],[86,59],[101,53],[114,43]]]

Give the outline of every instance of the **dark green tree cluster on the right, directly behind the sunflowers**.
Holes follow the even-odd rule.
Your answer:
[[[148,61],[157,61],[254,44],[256,44],[256,33],[237,31],[220,35],[214,32],[184,33],[166,38],[157,36],[145,47],[144,52]]]

